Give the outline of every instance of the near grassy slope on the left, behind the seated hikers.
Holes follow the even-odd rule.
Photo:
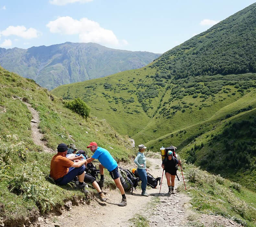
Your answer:
[[[96,141],[118,161],[128,161],[133,155],[127,138],[106,121],[82,118],[65,108],[62,100],[52,101],[49,92],[30,79],[0,67],[0,89],[0,216],[7,226],[25,223],[27,216],[33,221],[39,211],[48,212],[67,199],[90,199],[70,185],[59,187],[47,181],[53,154],[33,142],[32,114],[19,97],[39,112],[43,140],[53,150],[59,143],[75,143],[90,156],[86,145]]]

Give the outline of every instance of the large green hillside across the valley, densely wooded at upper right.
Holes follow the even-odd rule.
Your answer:
[[[229,118],[239,124],[239,114],[248,112],[253,117],[255,26],[256,3],[167,51],[147,67],[60,86],[52,93],[65,100],[82,98],[93,114],[136,144],[145,143],[157,152],[161,146],[174,144],[189,158],[183,150],[199,135],[210,133],[216,125],[222,127]],[[236,143],[230,146],[230,151],[237,149]],[[207,152],[208,148],[202,150],[204,157]],[[248,171],[255,163],[253,154],[249,159],[250,166],[230,165],[227,175],[225,168],[212,168],[210,162],[203,166],[238,181],[235,171],[242,171],[249,180],[247,186],[253,188]],[[195,163],[200,165],[200,158]]]

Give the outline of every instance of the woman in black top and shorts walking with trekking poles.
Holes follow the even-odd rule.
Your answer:
[[[173,156],[172,151],[168,151],[167,156],[162,162],[162,168],[165,170],[167,185],[169,188],[168,195],[174,193],[174,180],[178,170],[177,165],[180,165],[180,160]]]

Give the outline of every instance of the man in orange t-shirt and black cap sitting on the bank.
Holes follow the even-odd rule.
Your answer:
[[[52,157],[50,177],[56,184],[65,185],[78,176],[79,185],[77,187],[84,189],[86,159],[80,160],[82,156],[78,156],[79,161],[77,162],[69,160],[66,157],[68,147],[65,144],[59,144],[57,150],[58,153]]]

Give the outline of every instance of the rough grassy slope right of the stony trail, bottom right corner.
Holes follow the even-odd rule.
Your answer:
[[[256,221],[255,204],[256,195],[250,191],[250,200],[244,197],[249,190],[241,187],[240,192],[230,190],[229,185],[233,183],[224,179],[218,183],[219,177],[211,175],[206,171],[196,168],[192,164],[185,164],[187,189],[191,193],[192,209],[202,213],[221,215],[232,220],[243,223],[243,225],[254,226]],[[184,188],[179,188],[184,191]],[[193,220],[191,220],[193,221]]]

